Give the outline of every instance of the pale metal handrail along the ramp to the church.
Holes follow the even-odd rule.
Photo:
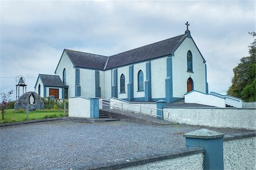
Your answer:
[[[108,103],[108,102],[105,102],[105,101],[115,102],[115,103],[121,103],[121,104],[122,104],[122,107],[118,107],[118,106],[116,106],[116,105],[113,105],[113,104]],[[103,105],[103,104],[101,104],[102,106],[118,107],[119,109],[122,109],[122,111],[123,111],[123,110],[130,110],[130,111],[136,111],[136,112],[144,113],[144,114],[148,114],[148,113],[142,112],[142,111],[141,111],[141,108],[142,108],[142,107],[144,107],[144,108],[149,108],[149,109],[155,109],[156,111],[157,111],[157,110],[160,110],[160,111],[162,111],[162,116],[157,115],[157,114],[156,114],[155,116],[156,116],[156,117],[162,117],[162,119],[163,119],[163,112],[164,112],[164,111],[166,111],[166,112],[168,113],[167,119],[169,119],[169,115],[170,115],[170,112],[169,112],[168,110],[158,109],[158,108],[149,107],[149,106],[141,106],[141,105],[135,105],[135,104],[132,104],[132,103],[116,102],[116,101],[110,101],[110,100],[107,100],[107,99],[104,99],[104,101],[103,101],[103,99],[101,99],[101,102],[108,104],[108,105]],[[138,107],[140,107],[140,111],[132,110],[132,109],[124,109],[124,108],[123,108],[123,104],[125,104],[125,105],[131,105],[131,106],[138,106]],[[148,115],[152,115],[152,113],[150,113],[150,114],[148,114]]]

